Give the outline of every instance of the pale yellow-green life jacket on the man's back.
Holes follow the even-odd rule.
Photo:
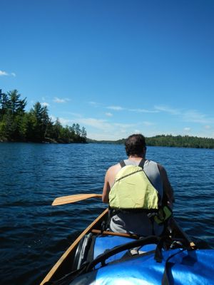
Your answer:
[[[152,215],[153,219],[162,224],[172,212],[162,206],[161,197],[143,171],[143,160],[138,166],[121,163],[113,187],[109,193],[109,206],[118,210],[143,210]],[[160,214],[159,214],[160,213]]]

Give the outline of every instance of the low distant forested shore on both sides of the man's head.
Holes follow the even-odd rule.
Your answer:
[[[126,139],[121,140],[90,140],[88,142],[96,143],[113,143],[113,144],[124,144]],[[158,146],[158,147],[194,147],[194,148],[214,148],[213,138],[198,138],[189,135],[156,135],[155,137],[146,138],[146,145]]]

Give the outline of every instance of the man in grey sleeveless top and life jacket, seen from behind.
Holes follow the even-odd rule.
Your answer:
[[[125,142],[128,159],[108,168],[102,200],[113,209],[113,232],[148,236],[161,235],[163,223],[154,222],[153,211],[168,204],[173,207],[173,188],[165,168],[146,159],[146,140],[141,134],[130,135]]]

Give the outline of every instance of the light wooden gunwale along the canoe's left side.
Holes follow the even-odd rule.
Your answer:
[[[95,226],[95,224],[97,222],[99,222],[106,214],[108,213],[108,208],[105,209],[102,214],[100,214],[82,233],[81,235],[73,242],[73,244],[71,244],[70,247],[68,247],[68,249],[66,250],[66,252],[64,252],[64,254],[61,256],[60,259],[58,259],[58,261],[56,262],[56,264],[52,267],[52,269],[49,271],[49,273],[45,276],[45,278],[43,279],[43,281],[41,281],[40,285],[43,285],[45,282],[50,281],[51,277],[56,273],[56,271],[58,270],[58,267],[61,266],[61,264],[63,263],[63,261],[68,257],[68,254],[71,253],[71,251],[73,250],[74,247],[76,247],[76,245],[78,244],[78,242],[81,240],[81,238],[87,234],[88,232],[91,231],[91,229]]]

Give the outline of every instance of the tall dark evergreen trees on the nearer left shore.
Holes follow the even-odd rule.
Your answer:
[[[18,90],[0,90],[0,141],[11,142],[86,142],[86,128],[78,123],[63,127],[49,117],[47,106],[36,102],[26,112],[26,98]]]

